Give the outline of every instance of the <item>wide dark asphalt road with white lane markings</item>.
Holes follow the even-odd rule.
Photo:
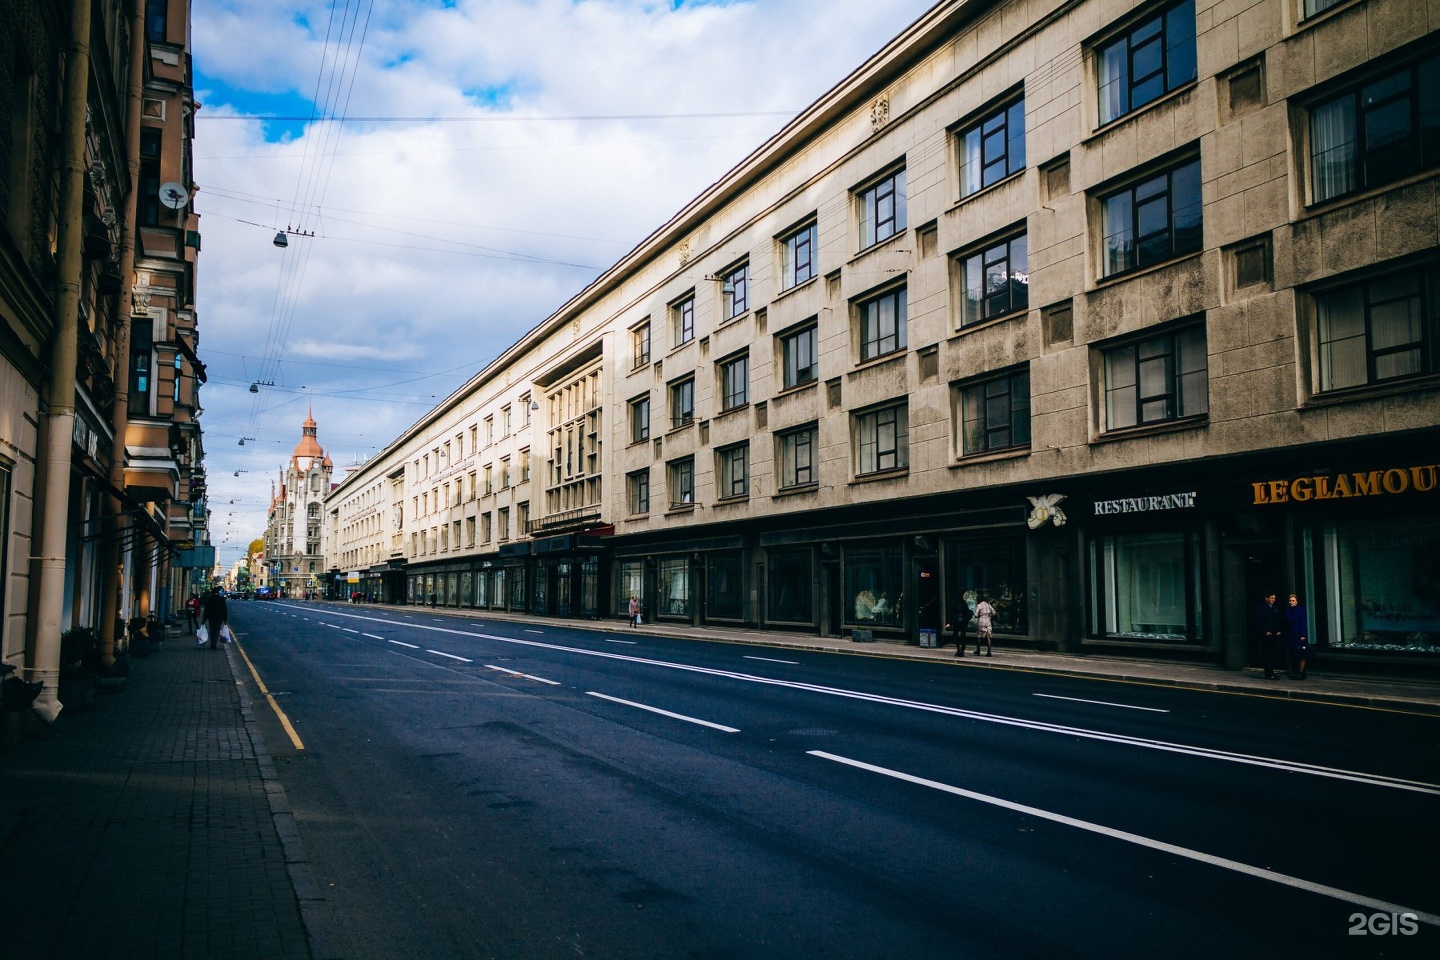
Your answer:
[[[256,710],[350,960],[1440,956],[1440,718],[230,617],[302,743]]]

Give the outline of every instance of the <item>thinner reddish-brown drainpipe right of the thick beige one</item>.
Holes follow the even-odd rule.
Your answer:
[[[145,0],[130,3],[130,89],[125,99],[125,163],[130,189],[120,233],[120,335],[115,337],[115,404],[111,430],[115,450],[111,455],[109,482],[125,489],[125,423],[130,419],[130,314],[135,302],[135,232],[140,229],[140,107],[145,83]],[[99,649],[105,666],[115,664],[117,620],[120,617],[120,544],[125,540],[130,515],[124,504],[107,497],[105,538],[101,541]],[[122,628],[121,628],[122,629]]]

